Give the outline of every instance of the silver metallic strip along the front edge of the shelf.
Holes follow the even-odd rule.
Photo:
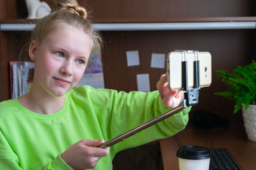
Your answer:
[[[255,29],[256,21],[93,23],[92,25],[98,31]],[[34,27],[35,27],[35,23],[1,23],[0,31],[31,31],[31,30],[33,30]]]

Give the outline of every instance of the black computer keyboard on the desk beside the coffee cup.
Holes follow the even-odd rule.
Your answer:
[[[209,170],[243,169],[226,148],[209,148],[211,152]]]

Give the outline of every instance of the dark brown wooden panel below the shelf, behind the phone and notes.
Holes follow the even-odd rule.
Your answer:
[[[164,69],[150,68],[152,53],[172,52],[175,49],[211,52],[212,84],[200,90],[200,103],[193,110],[210,110],[218,115],[232,116],[233,103],[214,92],[225,90],[225,85],[216,76],[218,69],[232,71],[238,65],[248,64],[253,55],[253,30],[219,31],[104,31],[105,43],[102,52],[105,86],[109,89],[138,90],[136,74],[150,74],[150,88]],[[139,50],[140,66],[127,66],[126,51]]]

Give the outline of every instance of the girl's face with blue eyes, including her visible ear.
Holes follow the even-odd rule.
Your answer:
[[[91,50],[92,38],[68,26],[54,29],[40,43],[32,41],[29,55],[35,62],[35,75],[31,92],[60,97],[76,87]]]

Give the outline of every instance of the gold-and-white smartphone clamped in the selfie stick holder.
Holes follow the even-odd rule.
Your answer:
[[[167,56],[168,87],[171,90],[184,90],[182,85],[182,61],[187,61],[188,88],[195,87],[194,62],[199,60],[200,87],[208,87],[212,82],[211,53],[180,51],[170,52]]]

